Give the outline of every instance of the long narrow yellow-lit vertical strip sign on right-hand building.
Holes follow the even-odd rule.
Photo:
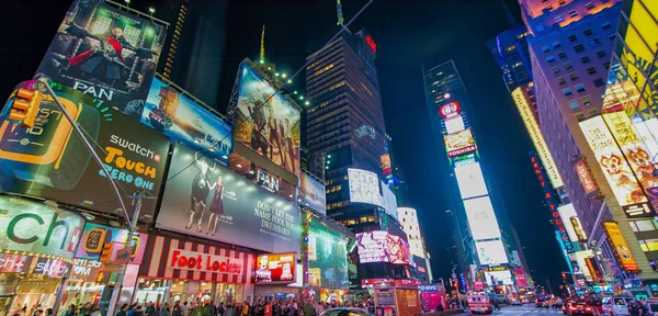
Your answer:
[[[542,165],[544,165],[544,169],[548,174],[548,179],[551,179],[553,188],[555,189],[563,187],[564,182],[561,177],[559,177],[557,166],[555,166],[553,156],[551,156],[548,146],[546,145],[544,136],[542,135],[542,131],[540,129],[540,124],[537,123],[534,113],[530,108],[530,103],[527,102],[525,93],[523,93],[523,89],[521,87],[514,89],[514,91],[512,91],[512,98],[514,99],[519,114],[521,114],[525,129],[527,129],[527,134],[530,134],[530,139],[532,139],[532,144],[540,154],[540,160],[542,160]]]

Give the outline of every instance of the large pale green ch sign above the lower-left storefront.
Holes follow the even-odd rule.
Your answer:
[[[71,259],[84,219],[77,214],[0,195],[0,248]]]

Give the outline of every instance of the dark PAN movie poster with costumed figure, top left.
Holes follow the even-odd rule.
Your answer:
[[[139,117],[166,34],[152,19],[75,0],[36,74]]]

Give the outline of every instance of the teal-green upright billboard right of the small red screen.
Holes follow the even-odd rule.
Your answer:
[[[342,235],[311,216],[308,223],[309,285],[330,290],[349,287],[347,247]]]

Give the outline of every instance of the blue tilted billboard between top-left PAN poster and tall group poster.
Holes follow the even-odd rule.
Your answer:
[[[172,142],[183,143],[228,166],[232,150],[230,126],[205,105],[159,78],[151,82],[141,123],[158,129]]]

